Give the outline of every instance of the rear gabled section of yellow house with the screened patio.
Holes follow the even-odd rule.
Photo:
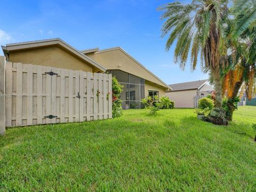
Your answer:
[[[81,51],[94,61],[101,63],[117,78],[124,88],[121,93],[122,107],[141,108],[140,100],[147,96],[162,97],[171,90],[168,85],[142,66],[121,47],[99,50],[98,48]]]

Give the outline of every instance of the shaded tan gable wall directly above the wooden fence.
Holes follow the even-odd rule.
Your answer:
[[[10,51],[9,61],[96,72],[96,69],[90,63],[82,61],[58,45]]]

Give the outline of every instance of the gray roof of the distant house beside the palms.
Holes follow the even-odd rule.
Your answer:
[[[184,91],[184,90],[197,90],[203,84],[205,84],[208,79],[193,81],[193,82],[185,82],[185,83],[177,83],[169,85],[172,88],[172,91]]]

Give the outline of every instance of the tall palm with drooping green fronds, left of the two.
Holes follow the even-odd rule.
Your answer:
[[[174,57],[182,69],[185,68],[189,52],[193,70],[196,68],[198,55],[201,55],[201,66],[205,71],[210,71],[213,77],[217,93],[215,107],[221,108],[221,73],[227,65],[227,0],[194,0],[187,5],[175,2],[159,7],[158,10],[165,11],[162,15],[162,19],[166,20],[162,36],[171,32],[166,50],[169,51],[177,39]]]

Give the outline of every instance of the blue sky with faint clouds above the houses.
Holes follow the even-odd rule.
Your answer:
[[[166,84],[206,79],[200,63],[195,71],[189,61],[185,70],[180,69],[174,62],[175,44],[165,50],[163,12],[156,9],[171,2],[1,0],[0,45],[58,37],[78,50],[120,46]]]

